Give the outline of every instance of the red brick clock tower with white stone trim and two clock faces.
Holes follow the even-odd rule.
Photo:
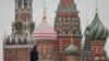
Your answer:
[[[3,39],[3,61],[29,61],[33,47],[33,0],[15,0],[15,20],[11,36]]]

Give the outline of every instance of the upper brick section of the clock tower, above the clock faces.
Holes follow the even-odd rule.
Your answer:
[[[33,0],[15,0],[15,20],[19,17],[26,21],[33,17]]]

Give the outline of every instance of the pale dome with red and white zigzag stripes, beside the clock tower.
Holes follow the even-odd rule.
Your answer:
[[[57,33],[48,24],[45,14],[46,14],[46,11],[44,11],[44,16],[43,16],[41,23],[33,32],[33,38],[34,39],[56,39],[57,38]]]

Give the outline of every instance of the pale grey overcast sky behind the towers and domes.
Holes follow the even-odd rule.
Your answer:
[[[43,15],[43,2],[46,2],[48,22],[53,27],[53,21],[56,16],[56,10],[60,0],[34,0],[33,1],[33,19],[36,21],[36,26],[41,21]],[[81,27],[84,32],[88,23],[94,20],[96,0],[75,0],[77,10],[80,11]],[[109,29],[109,0],[98,0],[98,13],[102,24]],[[2,39],[4,30],[7,35],[11,34],[12,22],[14,21],[14,0],[0,0],[0,61],[2,61]],[[109,38],[109,37],[108,37]],[[109,40],[107,39],[106,51],[109,54]]]

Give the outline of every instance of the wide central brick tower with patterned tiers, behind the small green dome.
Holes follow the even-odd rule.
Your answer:
[[[55,29],[58,34],[55,54],[59,60],[64,60],[64,48],[70,45],[71,37],[74,39],[74,45],[81,49],[81,21],[74,0],[60,0],[56,11]]]

